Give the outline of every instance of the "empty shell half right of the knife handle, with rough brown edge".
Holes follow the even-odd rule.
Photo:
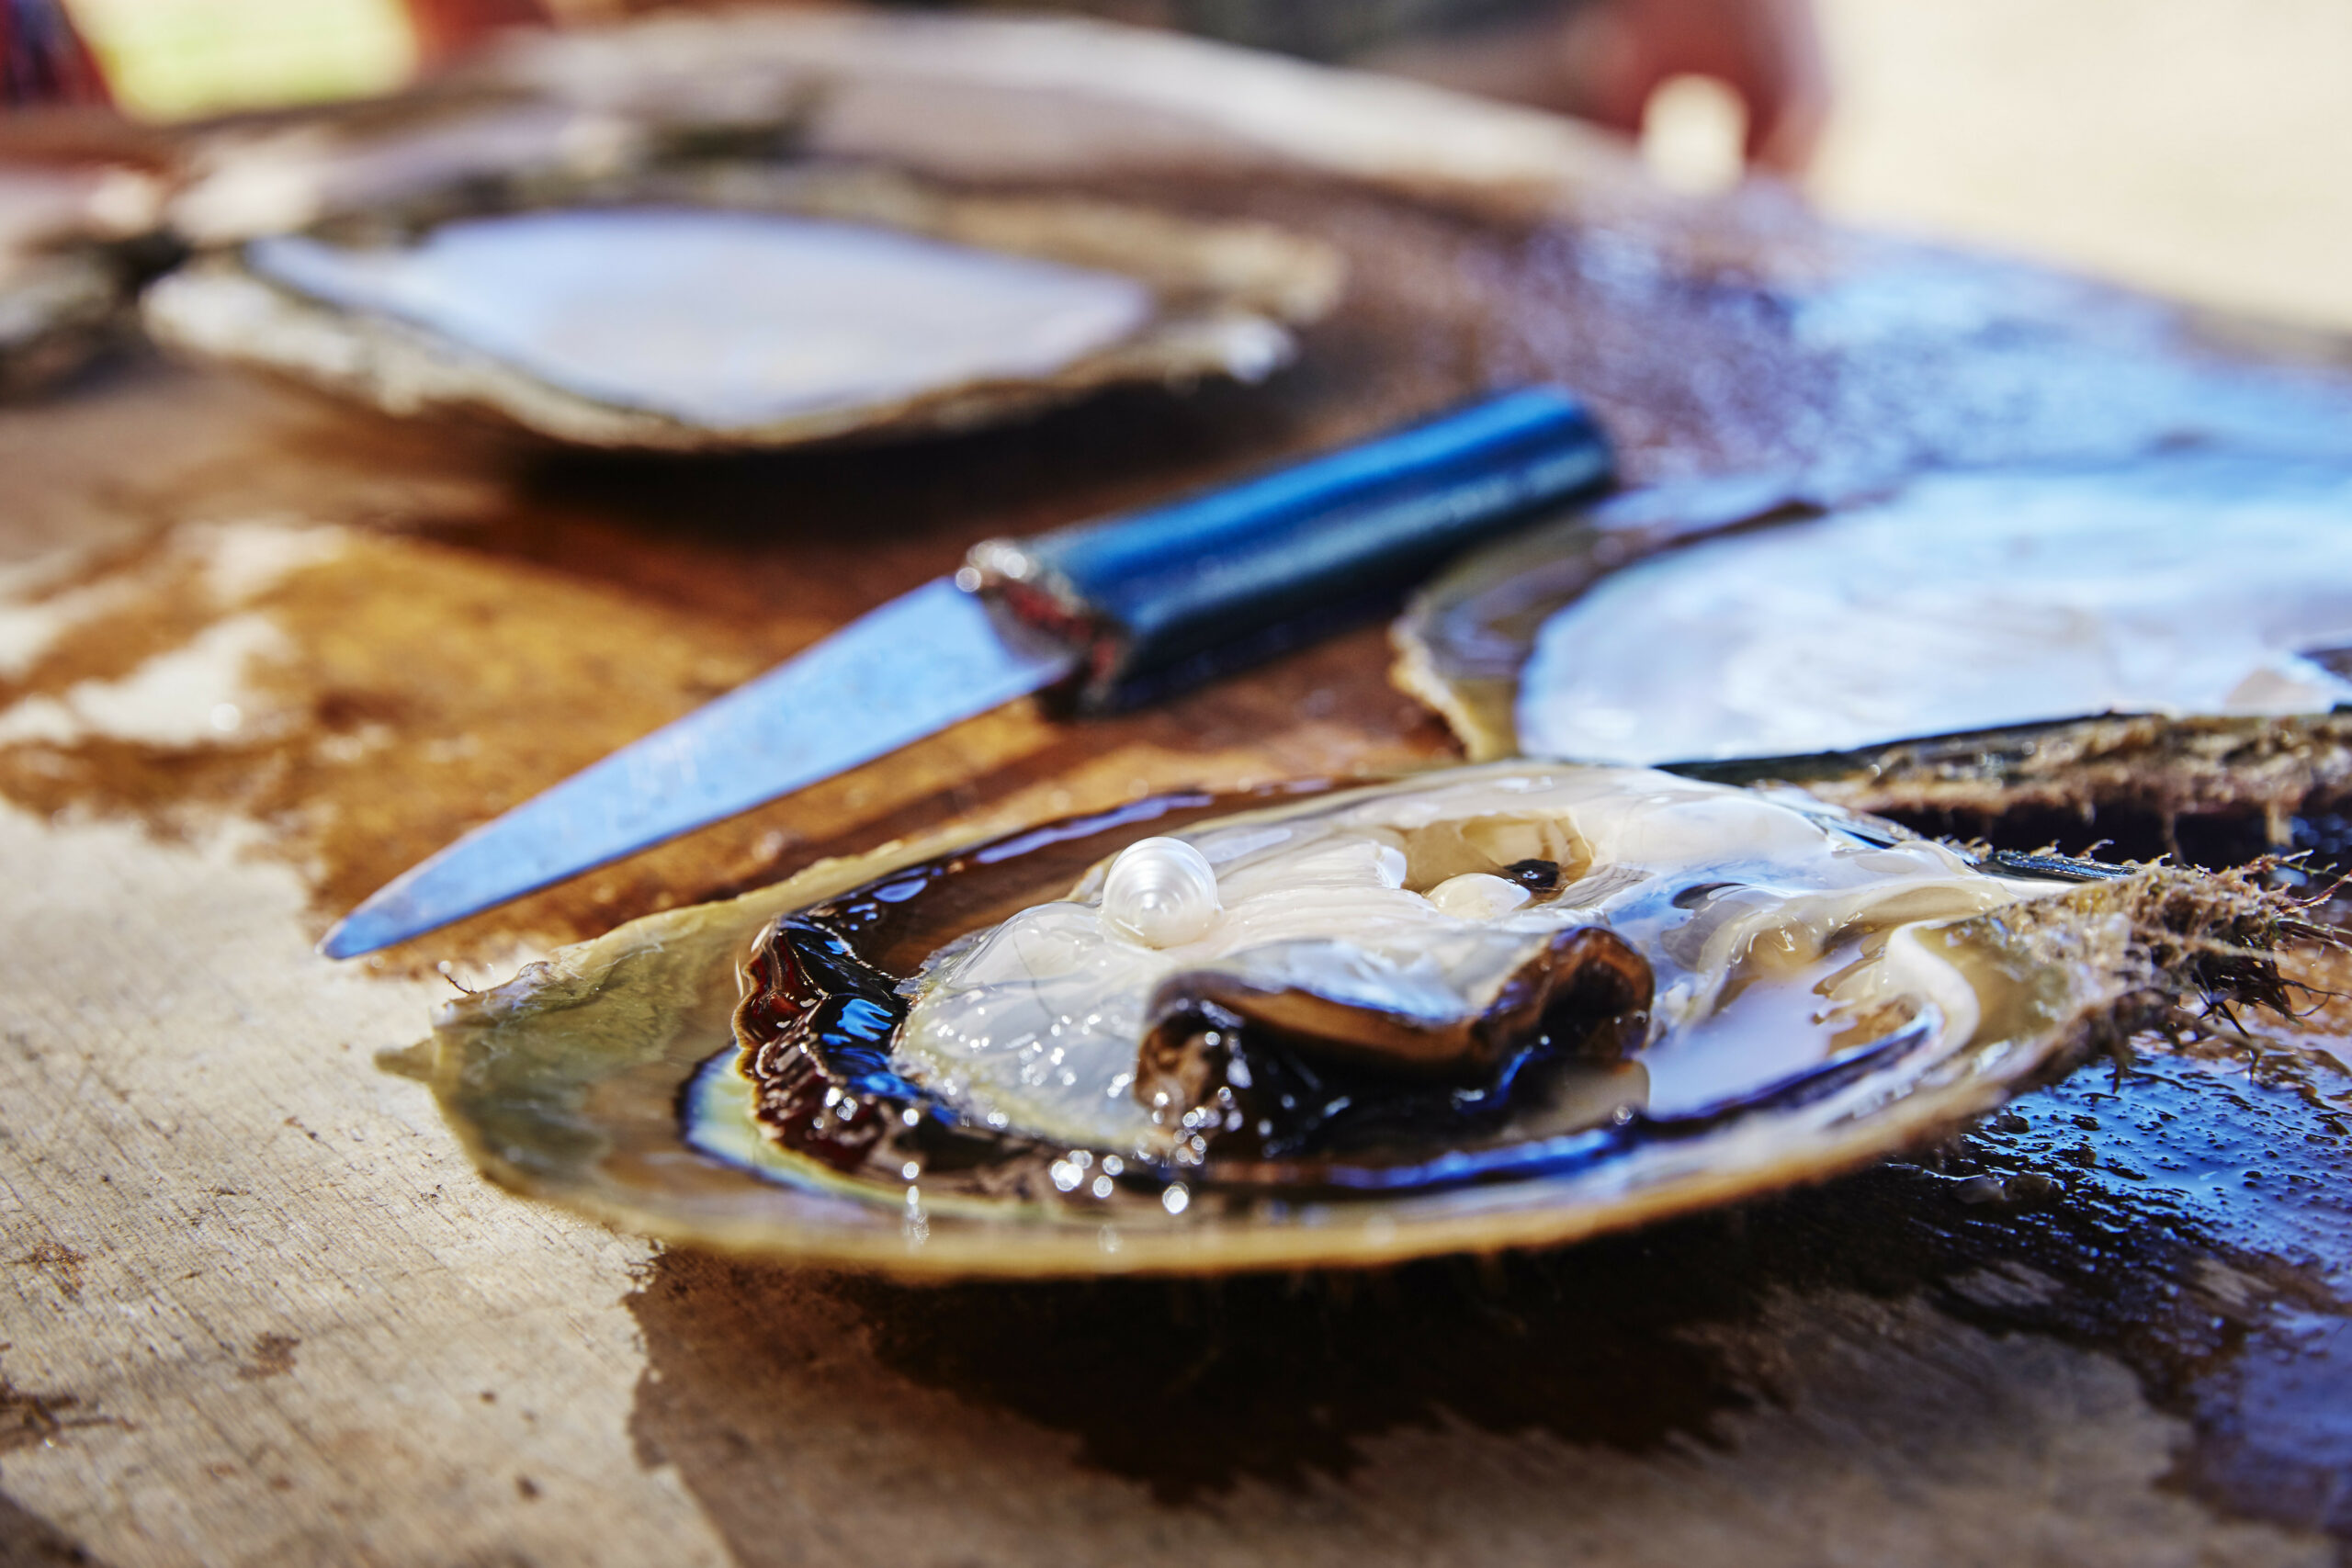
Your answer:
[[[2314,461],[1661,487],[1458,564],[1395,675],[1472,757],[2227,863],[2317,846],[2352,785],[2347,550],[2352,468]]]

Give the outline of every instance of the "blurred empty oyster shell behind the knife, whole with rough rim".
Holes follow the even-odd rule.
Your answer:
[[[1329,247],[1263,223],[743,165],[261,235],[143,310],[172,348],[395,416],[724,449],[1256,381],[1338,282]]]

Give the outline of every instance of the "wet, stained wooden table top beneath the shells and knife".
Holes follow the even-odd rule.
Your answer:
[[[1148,136],[882,141],[1329,237],[1348,303],[1268,386],[708,463],[143,357],[0,409],[0,1561],[2347,1561],[2352,1098],[2277,1053],[2089,1067],[1919,1164],[1552,1255],[938,1288],[517,1201],[376,1070],[452,985],[818,856],[1451,750],[1369,628],[1120,722],[1014,705],[310,954],[985,534],[1529,376],[1585,388],[1635,477],[2352,451],[2331,346],[2256,362],[1769,190],[1651,195],[1517,110],[1303,71],[1265,108],[1256,61],[1103,38],[1030,38],[1082,59],[1023,113]]]

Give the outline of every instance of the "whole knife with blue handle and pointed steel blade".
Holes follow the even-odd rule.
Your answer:
[[[1484,397],[1162,508],[985,541],[402,872],[318,950],[348,959],[873,762],[1035,691],[1117,712],[1378,614],[1611,454],[1557,388]]]

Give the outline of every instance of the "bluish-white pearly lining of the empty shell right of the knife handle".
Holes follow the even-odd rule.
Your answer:
[[[2352,475],[2171,456],[1929,475],[1625,567],[1529,658],[1529,755],[1799,757],[2103,712],[2352,701]]]

